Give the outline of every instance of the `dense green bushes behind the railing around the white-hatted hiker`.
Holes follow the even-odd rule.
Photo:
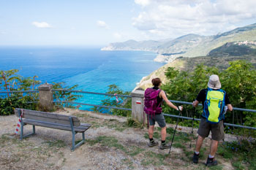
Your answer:
[[[216,67],[197,65],[192,72],[178,71],[169,67],[165,72],[167,80],[162,89],[167,93],[169,99],[177,101],[194,101],[201,89],[207,88],[208,77],[211,74],[218,74],[222,89],[227,91],[233,107],[256,109],[256,69],[251,63],[246,61],[232,61],[230,66],[219,71]],[[195,117],[200,117],[201,108],[198,107],[195,112]],[[178,112],[173,112],[173,109],[163,106],[163,112],[178,115]],[[192,117],[192,107],[184,105],[183,115]],[[249,112],[239,112],[241,122],[244,125],[255,127],[256,115]],[[167,119],[167,122],[173,123],[172,119]],[[186,124],[185,120],[181,120],[181,124]],[[225,122],[233,123],[233,115],[226,114]],[[191,125],[191,121],[188,121]]]

